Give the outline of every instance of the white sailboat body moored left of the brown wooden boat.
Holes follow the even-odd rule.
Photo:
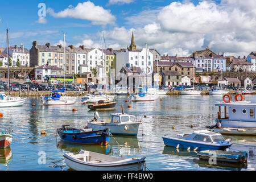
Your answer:
[[[49,106],[49,105],[72,105],[75,104],[78,97],[68,97],[68,96],[61,96],[59,100],[42,100],[42,105]]]

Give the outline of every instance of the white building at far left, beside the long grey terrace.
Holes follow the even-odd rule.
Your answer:
[[[17,45],[10,46],[10,49],[13,51],[12,62],[15,67],[18,60],[21,67],[30,67],[30,52],[28,49],[24,48],[22,44],[20,44],[20,47]]]

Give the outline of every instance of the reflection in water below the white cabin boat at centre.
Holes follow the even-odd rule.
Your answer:
[[[142,153],[142,147],[138,141],[137,136],[115,135],[114,138],[118,144],[114,139],[110,140],[110,154],[114,156],[131,155],[135,157]]]

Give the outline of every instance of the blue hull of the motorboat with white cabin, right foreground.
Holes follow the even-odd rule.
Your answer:
[[[226,148],[230,147],[231,144],[225,145],[225,146],[220,146],[220,145],[211,145],[211,144],[203,144],[199,142],[192,142],[192,141],[184,141],[184,140],[176,140],[176,139],[171,139],[171,138],[166,138],[163,137],[164,144],[166,146],[171,146],[171,147],[177,147],[179,144],[180,148],[190,148],[191,150],[194,150],[197,148],[197,150],[225,150]]]

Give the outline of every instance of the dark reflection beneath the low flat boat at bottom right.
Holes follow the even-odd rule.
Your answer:
[[[208,160],[199,160],[193,159],[195,164],[198,164],[200,167],[207,168],[216,168],[216,169],[225,169],[232,171],[240,171],[241,169],[247,169],[247,163],[224,163],[224,162],[216,162],[216,164],[209,164]]]

